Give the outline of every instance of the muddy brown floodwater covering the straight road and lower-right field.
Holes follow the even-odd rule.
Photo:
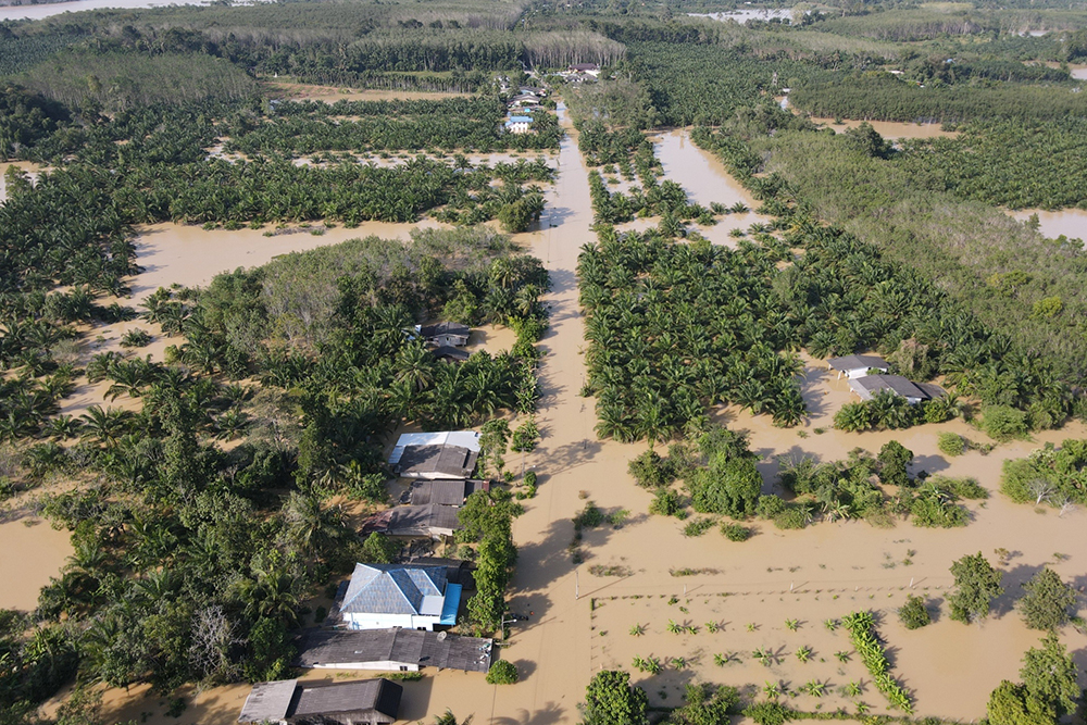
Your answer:
[[[824,364],[807,360],[802,388],[812,416],[804,426],[782,429],[765,416],[733,409],[719,413],[730,427],[750,433],[767,492],[774,490],[777,455],[834,460],[855,447],[876,452],[897,439],[914,452],[914,472],[974,476],[994,496],[972,502],[973,520],[960,529],[922,529],[909,523],[884,529],[847,521],[782,532],[752,523],[754,536],[742,543],[727,541],[714,529],[702,537],[684,537],[680,522],[646,513],[651,496],[627,473],[628,461],[646,443],[597,440],[594,401],[578,395],[585,382],[586,343],[575,268],[579,248],[594,243],[595,236],[587,170],[564,113],[562,120],[567,137],[559,155],[558,183],[547,192],[542,228],[520,236],[545,260],[553,282],[547,299],[551,327],[541,341],[547,354],[540,368],[537,421],[544,439],[526,455],[526,465],[539,476],[539,489],[514,522],[518,561],[510,604],[528,620],[512,625],[512,637],[502,648],[502,657],[517,665],[522,680],[489,686],[479,674],[427,671],[422,682],[405,687],[401,716],[429,722],[448,708],[460,722],[472,717],[480,724],[574,723],[592,674],[607,667],[630,671],[635,655],[658,658],[667,665],[660,675],[633,674],[654,705],[675,705],[683,686],[692,679],[757,686],[778,679],[790,689],[817,679],[830,690],[822,700],[798,696],[787,702],[804,710],[821,702],[834,708],[846,704],[834,690],[859,680],[865,688],[861,699],[873,712],[887,712],[855,655],[837,661],[835,652],[852,649],[846,634],[822,624],[859,609],[871,609],[879,617],[879,632],[894,655],[894,673],[915,695],[919,714],[983,716],[989,691],[1001,678],[1017,676],[1024,650],[1038,639],[1011,610],[1019,584],[1046,563],[1076,586],[1087,584],[1084,514],[1060,517],[1052,510],[1036,511],[1004,500],[996,493],[1001,463],[1046,441],[1083,437],[1083,427],[1039,434],[1033,441],[1003,445],[985,457],[975,451],[948,460],[936,446],[939,432],[955,430],[977,441],[985,441],[985,436],[962,422],[895,433],[824,429],[850,392]],[[689,150],[679,139],[675,147],[679,150],[662,151],[666,175],[696,199],[701,198],[696,193],[709,193],[721,200],[713,196],[720,191],[703,188],[711,183],[722,188],[720,179],[704,172],[688,174],[682,161]],[[571,520],[587,500],[605,512],[625,510],[628,515],[619,527],[586,532],[580,546],[585,563],[575,567],[567,551],[574,533]],[[926,596],[936,607],[951,584],[948,567],[954,559],[982,551],[996,562],[997,548],[1009,551],[1002,566],[1008,593],[989,621],[969,627],[950,622],[945,607],[929,627],[905,632],[899,626],[895,609],[909,592]],[[614,567],[620,575],[596,576],[590,567],[598,564]],[[685,575],[675,575],[679,573]],[[791,618],[799,621],[796,632],[785,626]],[[670,620],[698,630],[671,634]],[[645,634],[630,635],[634,625],[642,626]],[[1087,637],[1065,629],[1061,638],[1080,667],[1087,665]],[[808,663],[795,655],[802,646],[814,650]],[[757,664],[751,657],[755,648],[769,649],[780,661],[771,667]],[[714,654],[733,652],[740,663],[714,664]],[[315,676],[364,675],[307,675]],[[235,722],[243,695],[245,688],[237,686],[208,689],[190,700],[192,707],[179,718],[163,714],[162,698],[147,697],[136,688],[130,696],[111,690],[108,699],[112,715],[140,716],[153,725],[227,725]]]

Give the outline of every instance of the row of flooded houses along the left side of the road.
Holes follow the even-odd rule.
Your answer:
[[[440,349],[464,345],[467,328],[417,327]],[[488,484],[473,479],[479,434],[472,430],[407,433],[389,466],[411,482],[405,505],[363,523],[362,533],[408,538],[450,536],[458,511]],[[471,564],[416,559],[408,564],[357,564],[340,585],[327,622],[296,641],[297,667],[418,672],[422,667],[485,673],[497,654],[493,640],[448,632],[457,624],[462,592],[474,587]],[[285,679],[253,686],[241,723],[389,724],[399,717],[403,688],[384,678],[326,683]]]

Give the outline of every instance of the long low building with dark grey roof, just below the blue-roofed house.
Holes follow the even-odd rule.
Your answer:
[[[418,672],[421,667],[487,672],[495,642],[447,632],[309,629],[295,665],[316,670]]]

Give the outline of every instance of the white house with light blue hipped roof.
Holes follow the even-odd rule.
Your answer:
[[[457,624],[460,605],[461,586],[449,584],[445,566],[355,564],[339,609],[350,629],[430,632]]]

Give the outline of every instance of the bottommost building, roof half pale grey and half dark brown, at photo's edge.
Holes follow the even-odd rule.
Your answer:
[[[387,679],[354,683],[257,683],[239,723],[340,723],[391,725],[400,715],[403,688]]]

